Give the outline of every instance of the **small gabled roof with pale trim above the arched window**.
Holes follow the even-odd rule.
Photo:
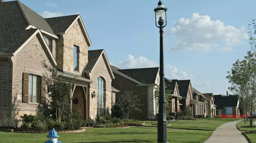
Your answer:
[[[108,71],[110,73],[110,76],[111,76],[112,79],[114,79],[115,77],[112,73],[110,64],[108,62],[107,55],[106,55],[106,53],[103,49],[88,50],[88,63],[87,63],[87,65],[85,65],[84,71],[85,72],[91,72],[93,70],[93,68],[95,67],[95,64],[98,62],[100,56],[103,56],[104,61],[106,62],[106,66],[108,68]]]

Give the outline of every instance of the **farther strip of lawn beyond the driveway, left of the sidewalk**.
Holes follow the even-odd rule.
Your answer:
[[[209,130],[214,131],[218,126],[231,122],[231,121],[237,121],[241,119],[237,118],[212,118],[212,119],[198,119],[197,121],[192,120],[179,120],[171,122],[171,126],[168,126],[168,128],[174,128],[174,129],[198,129],[198,130]],[[151,121],[143,121],[145,123],[145,126],[157,126],[157,121],[153,121],[154,125],[151,125]],[[168,123],[168,121],[167,121]]]

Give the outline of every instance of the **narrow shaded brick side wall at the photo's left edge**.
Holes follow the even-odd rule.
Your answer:
[[[7,58],[0,58],[0,61],[0,126],[9,126],[12,118],[12,64]]]

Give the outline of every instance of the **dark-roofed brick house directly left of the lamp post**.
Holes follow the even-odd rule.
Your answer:
[[[121,70],[111,65],[115,76],[112,86],[119,90],[116,99],[125,91],[133,92],[140,99],[141,112],[129,115],[129,118],[151,120],[158,113],[157,100],[154,97],[154,86],[159,84],[159,67]]]

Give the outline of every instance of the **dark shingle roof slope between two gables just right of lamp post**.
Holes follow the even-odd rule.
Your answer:
[[[190,79],[189,80],[172,79],[172,81],[177,81],[180,96],[187,97],[187,93],[189,91]]]

